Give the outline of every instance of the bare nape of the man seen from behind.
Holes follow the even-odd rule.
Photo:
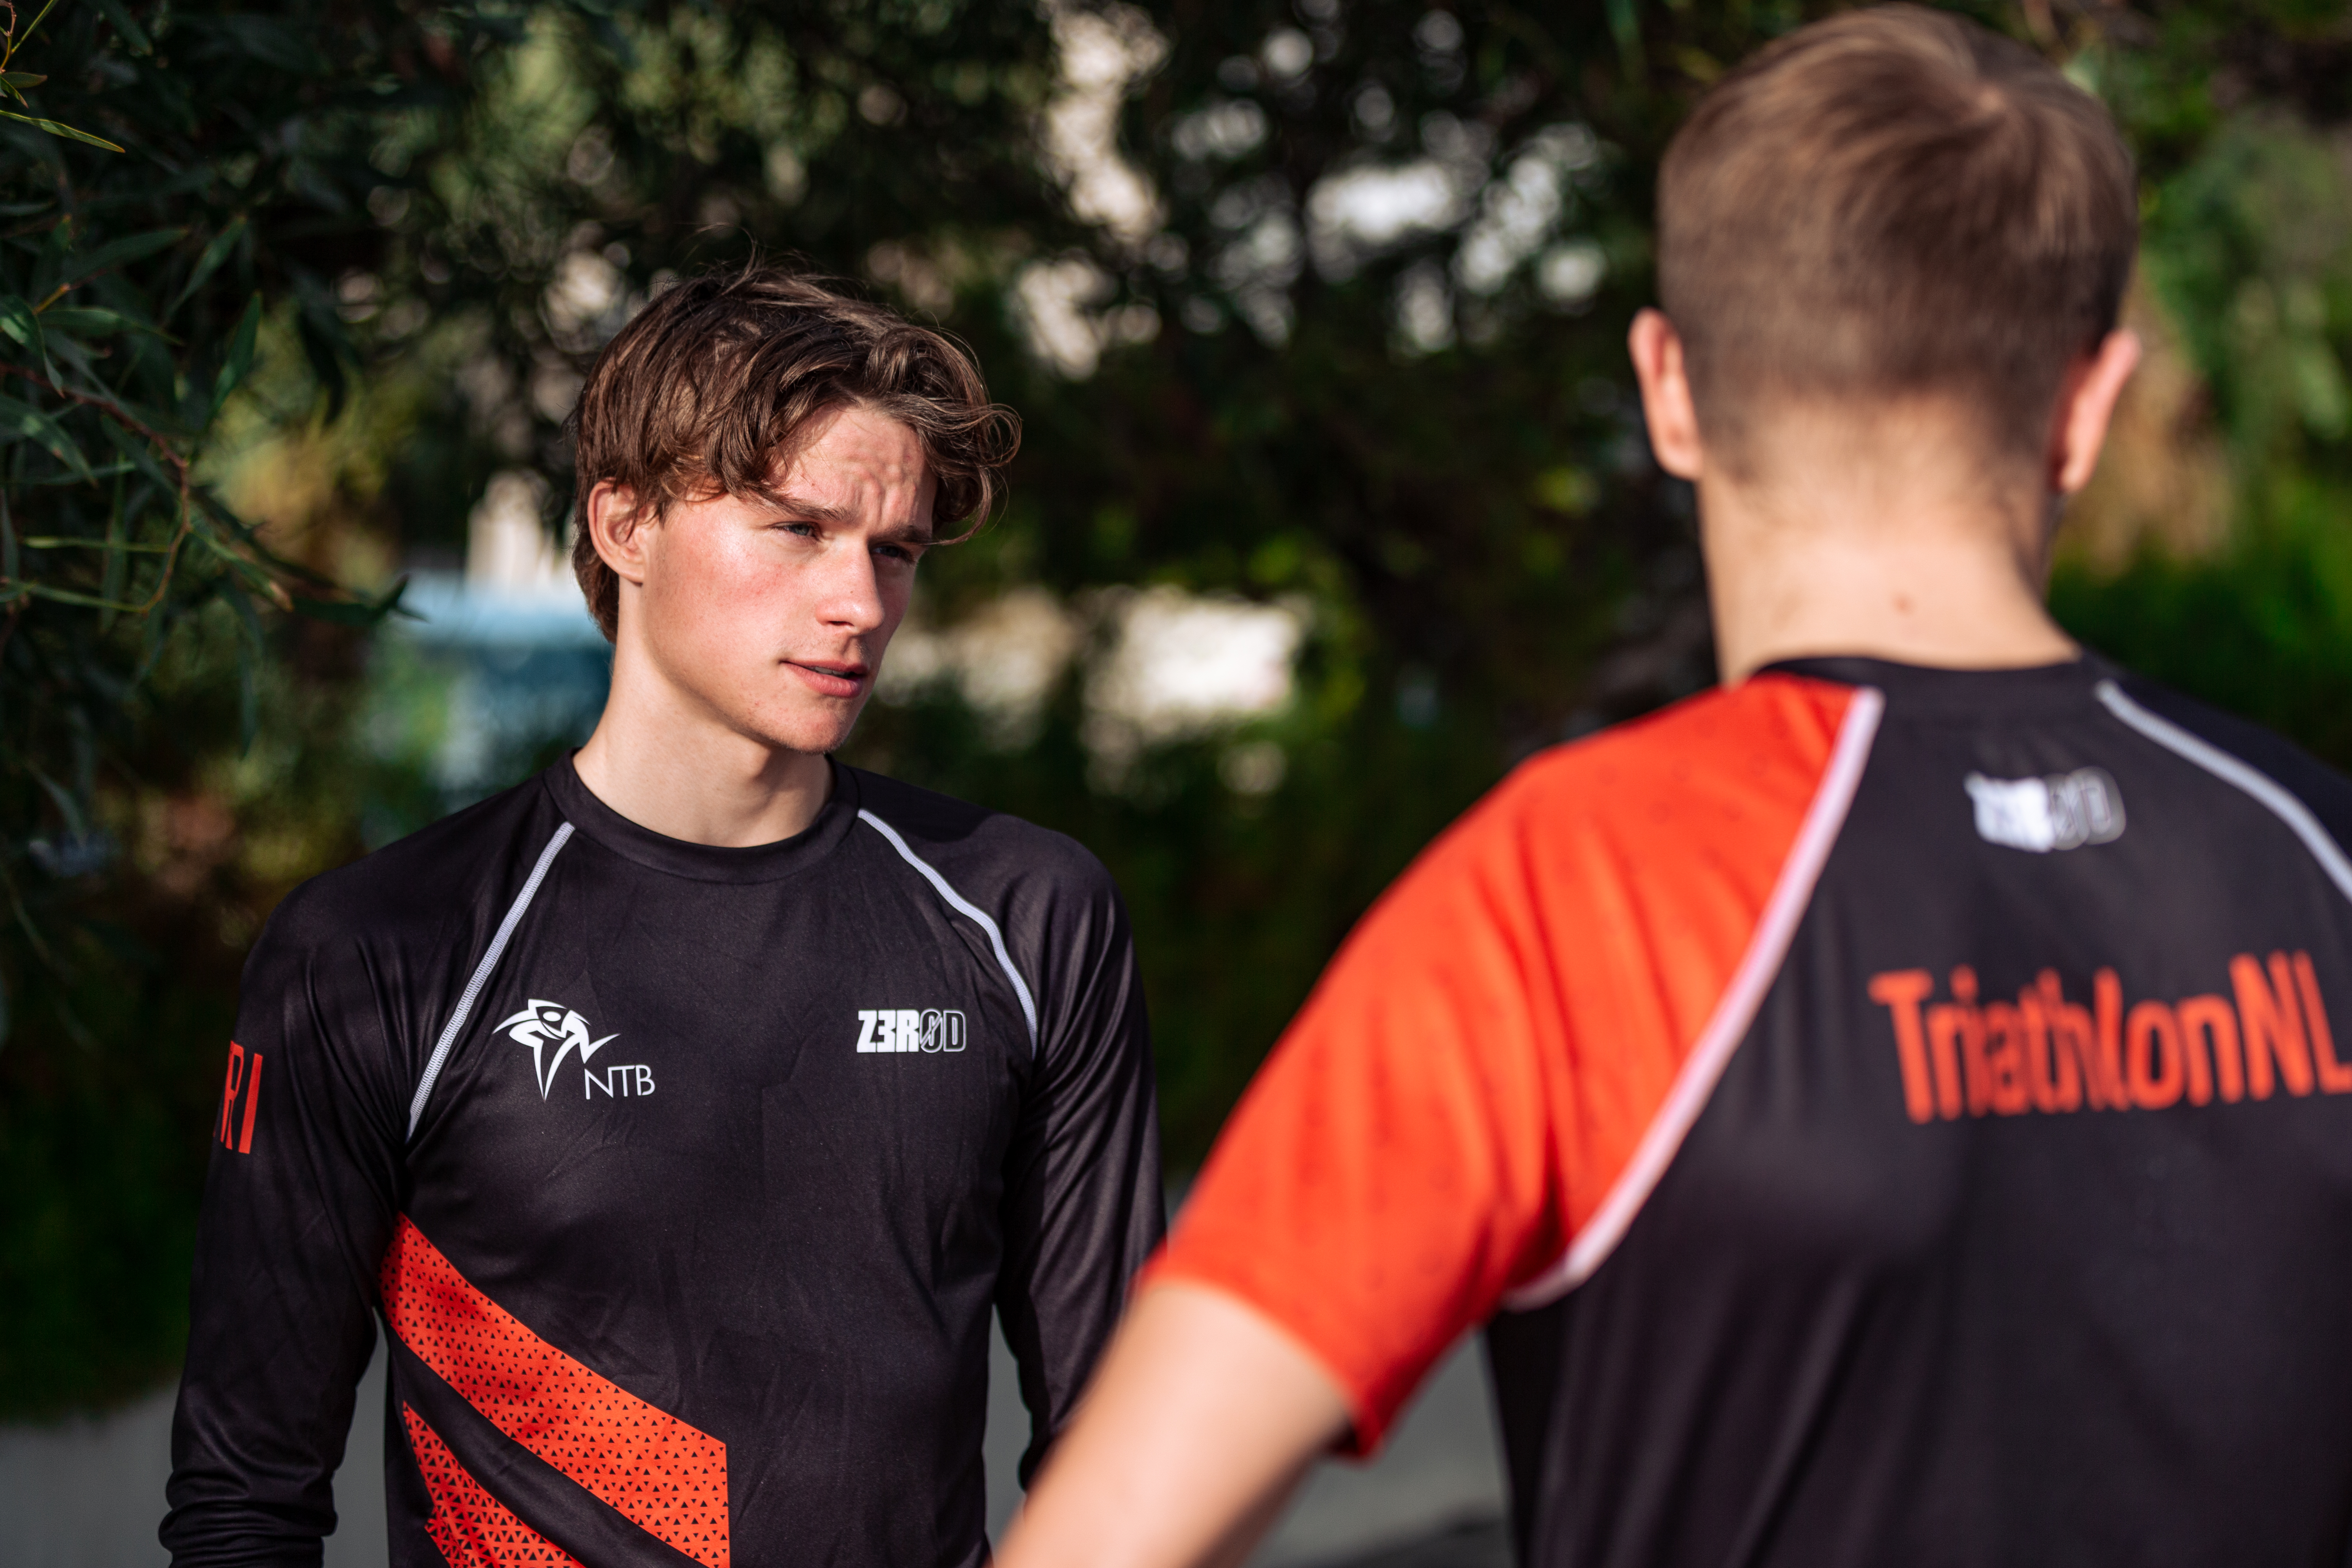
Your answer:
[[[2077,654],[2042,604],[2051,498],[2030,468],[1983,463],[1922,411],[1776,418],[1769,449],[1769,473],[1698,480],[1726,682],[1830,654],[1952,670]]]

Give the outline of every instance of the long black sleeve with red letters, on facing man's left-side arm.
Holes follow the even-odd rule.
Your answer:
[[[303,940],[296,891],[245,966],[212,1112],[162,1544],[315,1566],[374,1347],[405,1105],[365,957]]]

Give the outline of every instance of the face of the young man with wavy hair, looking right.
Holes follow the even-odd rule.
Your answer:
[[[873,696],[931,543],[936,484],[903,423],[821,414],[776,498],[673,503],[656,522],[590,527],[621,574],[616,696],[793,752],[830,752]],[[626,517],[626,491],[612,494]],[[607,548],[607,541],[612,548]]]

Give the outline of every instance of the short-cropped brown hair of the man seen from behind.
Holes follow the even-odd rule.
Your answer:
[[[1715,85],[1658,174],[1658,294],[1700,430],[1771,395],[1952,393],[2039,449],[2114,329],[2138,200],[2091,94],[1912,5],[1802,28]]]

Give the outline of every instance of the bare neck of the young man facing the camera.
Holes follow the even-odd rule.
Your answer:
[[[642,658],[614,658],[612,696],[572,759],[600,802],[654,832],[748,849],[807,832],[833,766],[724,724]]]

